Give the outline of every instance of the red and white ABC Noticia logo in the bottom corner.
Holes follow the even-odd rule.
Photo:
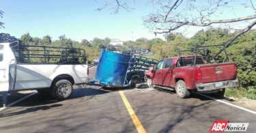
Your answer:
[[[215,120],[210,128],[210,132],[225,131],[246,131],[249,123],[229,123],[228,120]]]

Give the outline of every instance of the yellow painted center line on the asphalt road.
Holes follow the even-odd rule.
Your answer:
[[[123,91],[119,90],[119,93],[122,97],[122,100],[124,102],[124,105],[126,106],[126,109],[128,110],[128,113],[130,114],[130,117],[132,118],[132,121],[139,133],[146,133],[145,129],[143,128],[143,125],[141,125],[141,121],[139,121],[137,115],[134,113],[134,110],[132,109],[132,106],[130,106],[130,103],[128,102],[126,95],[124,95]]]

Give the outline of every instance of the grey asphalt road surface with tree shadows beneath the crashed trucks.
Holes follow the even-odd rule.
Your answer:
[[[94,74],[95,68],[90,70]],[[91,75],[93,77],[94,75]],[[180,99],[171,91],[123,89],[147,132],[209,132],[216,119],[250,123],[256,115],[201,95]],[[0,112],[0,132],[137,132],[118,89],[75,89],[70,100],[37,93]]]

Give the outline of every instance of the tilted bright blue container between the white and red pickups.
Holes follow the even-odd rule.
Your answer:
[[[128,86],[126,79],[131,55],[113,53],[109,50],[101,50],[95,79],[101,85],[111,87]]]

